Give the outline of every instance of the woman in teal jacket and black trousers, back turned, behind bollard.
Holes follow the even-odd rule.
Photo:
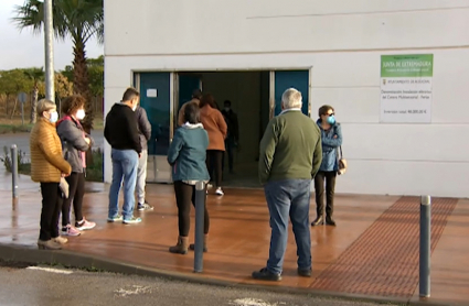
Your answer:
[[[185,254],[189,245],[189,228],[191,203],[195,206],[195,183],[209,183],[210,176],[206,170],[206,147],[209,135],[200,121],[200,109],[194,102],[184,107],[184,124],[174,133],[171,146],[168,151],[168,162],[172,166],[172,178],[174,181],[175,203],[178,205],[179,237],[178,243],[169,248],[171,253]],[[206,237],[209,234],[210,219],[205,207],[204,211],[204,243],[206,252]]]

